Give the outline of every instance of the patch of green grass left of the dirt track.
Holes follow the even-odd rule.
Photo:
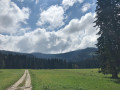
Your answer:
[[[0,90],[14,84],[24,73],[21,69],[0,69]]]

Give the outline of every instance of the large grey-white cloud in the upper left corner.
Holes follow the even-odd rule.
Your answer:
[[[10,0],[0,0],[0,33],[15,33],[29,19],[29,8],[20,9]]]

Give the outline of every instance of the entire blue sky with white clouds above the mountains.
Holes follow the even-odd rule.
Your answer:
[[[0,50],[64,53],[96,47],[96,0],[0,0]]]

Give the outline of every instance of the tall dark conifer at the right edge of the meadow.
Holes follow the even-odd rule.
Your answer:
[[[98,55],[101,71],[118,78],[120,72],[120,0],[97,0]]]

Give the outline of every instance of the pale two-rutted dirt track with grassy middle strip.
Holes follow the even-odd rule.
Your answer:
[[[29,71],[25,70],[23,76],[6,90],[32,90]]]

